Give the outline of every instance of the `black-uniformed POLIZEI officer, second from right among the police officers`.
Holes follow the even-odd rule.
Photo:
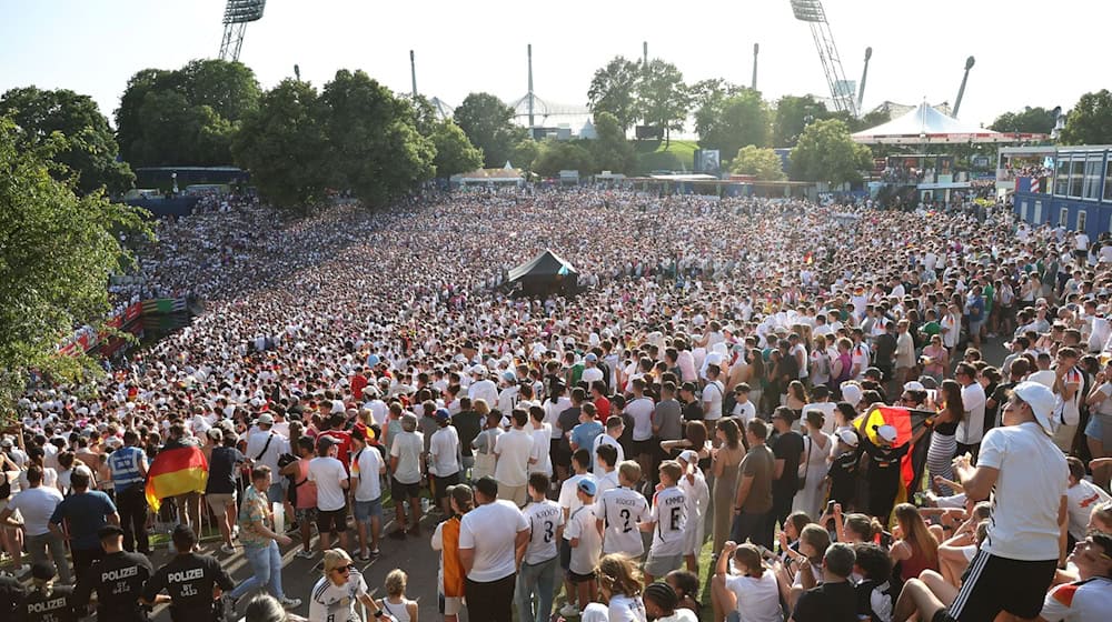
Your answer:
[[[105,554],[78,578],[73,591],[73,606],[89,604],[97,592],[97,620],[112,622],[146,622],[147,608],[140,604],[142,586],[155,572],[150,560],[142,553],[123,550],[123,530],[106,525],[97,532]],[[169,600],[166,595],[159,599]]]

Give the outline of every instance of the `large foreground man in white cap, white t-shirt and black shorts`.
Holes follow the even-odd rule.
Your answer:
[[[989,533],[950,606],[949,619],[959,622],[995,620],[1002,611],[1034,619],[1065,556],[1069,468],[1052,441],[1054,394],[1021,382],[1003,408],[1004,427],[985,434],[977,465],[954,460],[965,494],[993,499]]]

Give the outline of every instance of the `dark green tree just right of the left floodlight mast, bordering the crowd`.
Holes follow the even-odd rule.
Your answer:
[[[317,89],[286,79],[259,99],[236,133],[236,163],[270,203],[305,213],[325,198],[328,139]]]

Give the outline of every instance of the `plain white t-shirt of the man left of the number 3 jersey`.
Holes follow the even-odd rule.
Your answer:
[[[486,503],[464,514],[459,522],[459,548],[475,550],[475,562],[467,578],[489,583],[513,574],[517,570],[514,558],[517,532],[527,529],[529,522],[512,501]]]

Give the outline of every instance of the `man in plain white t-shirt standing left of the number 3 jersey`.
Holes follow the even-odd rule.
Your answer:
[[[476,508],[459,523],[459,561],[466,574],[469,620],[510,622],[516,551],[529,541],[525,514],[512,502],[499,501],[498,488],[489,476],[475,482]]]

